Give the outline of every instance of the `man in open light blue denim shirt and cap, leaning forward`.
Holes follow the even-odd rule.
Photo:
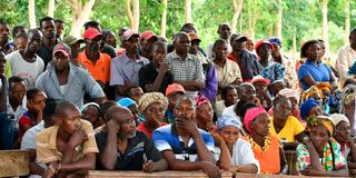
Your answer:
[[[67,100],[78,108],[83,105],[83,95],[89,93],[97,103],[101,103],[105,93],[88,71],[77,68],[70,61],[70,48],[58,43],[53,48],[53,67],[41,73],[36,88],[44,91],[48,98]]]

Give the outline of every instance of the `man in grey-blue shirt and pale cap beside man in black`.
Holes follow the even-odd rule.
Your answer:
[[[138,72],[149,60],[141,57],[139,51],[140,34],[135,30],[126,30],[122,34],[125,53],[111,60],[110,86],[115,87],[116,99],[125,96],[125,91],[139,85]]]

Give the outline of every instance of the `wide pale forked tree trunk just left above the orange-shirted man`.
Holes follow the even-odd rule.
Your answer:
[[[96,0],[89,0],[85,6],[77,0],[71,0],[69,3],[72,7],[72,17],[75,17],[71,21],[71,30],[69,34],[81,38],[80,29],[89,20],[89,16]]]

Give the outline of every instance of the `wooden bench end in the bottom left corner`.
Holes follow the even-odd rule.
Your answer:
[[[0,151],[0,177],[27,176],[30,174],[30,154],[24,150]]]

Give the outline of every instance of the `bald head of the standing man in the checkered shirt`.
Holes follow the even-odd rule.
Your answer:
[[[184,31],[176,33],[174,39],[174,46],[178,55],[187,55],[191,46],[188,33]]]

